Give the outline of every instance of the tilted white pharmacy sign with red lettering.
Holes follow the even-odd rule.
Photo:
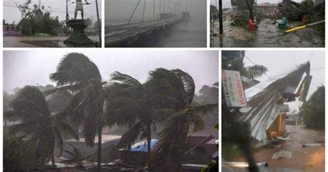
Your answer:
[[[221,74],[228,107],[246,107],[244,87],[239,71],[222,70]]]

